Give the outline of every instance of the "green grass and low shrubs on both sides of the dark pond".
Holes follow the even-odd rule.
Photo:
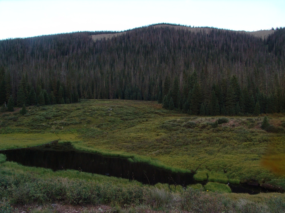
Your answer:
[[[167,184],[156,184],[152,187],[141,185],[137,181],[89,174],[80,170],[52,172],[50,169],[19,166],[4,160],[1,164],[1,180],[5,177],[13,180],[7,179],[7,183],[1,181],[0,192],[2,196],[10,197],[14,203],[46,203],[57,200],[80,204],[95,199],[96,203],[111,204],[120,211],[131,212],[132,208],[134,212],[144,212],[146,209],[184,209],[191,212],[193,208],[199,208],[195,205],[199,205],[200,200],[206,205],[213,202],[211,199],[218,199],[215,202],[221,202],[221,206],[208,207],[246,212],[243,208],[249,208],[248,206],[269,211],[273,208],[274,202],[270,196],[274,194],[279,199],[279,203],[274,203],[275,207],[279,205],[278,208],[284,208],[284,194],[235,194],[229,193],[231,189],[228,191],[226,187],[227,183],[256,182],[271,189],[285,189],[283,114],[268,115],[270,132],[261,129],[263,115],[226,118],[189,116],[175,110],[165,110],[162,104],[156,101],[81,100],[80,103],[73,104],[30,106],[24,115],[20,114],[19,110],[20,108],[15,108],[14,112],[1,113],[1,150],[36,146],[55,140],[59,143],[69,141],[81,151],[123,156],[131,162],[147,162],[176,172],[194,172],[196,180],[209,182],[204,186],[188,186],[188,191],[184,191],[178,185],[172,187]],[[24,180],[19,176],[24,176]],[[31,178],[42,187],[48,185],[46,190],[52,190],[54,185],[50,184],[55,181],[58,182],[59,188],[64,187],[64,183],[72,182],[75,184],[74,187],[79,187],[78,190],[83,187],[87,191],[99,192],[97,197],[95,193],[95,198],[87,196],[91,192],[85,191],[86,194],[83,195],[84,191],[80,194],[74,191],[74,188],[73,191],[65,189],[66,195],[48,196],[42,192],[36,196],[23,191],[23,185],[30,183]],[[100,183],[101,189],[89,189],[91,183]],[[211,183],[218,186],[212,186]],[[12,188],[15,191],[9,188],[11,184],[14,185]],[[113,190],[110,193],[116,195],[116,190],[124,189],[120,196],[127,196],[129,200],[126,198],[126,201],[123,201],[117,196],[108,197],[106,194],[107,198],[100,197],[103,196],[103,191],[107,190],[105,187],[111,187],[108,190]],[[33,190],[33,193],[36,193],[36,189]],[[134,197],[128,194],[128,190],[135,190],[132,193]],[[16,195],[18,193],[25,194],[24,198]],[[78,197],[72,198],[72,193],[76,193]],[[105,191],[104,193],[108,194]],[[175,196],[179,196],[180,200],[175,200],[178,199]],[[194,197],[199,201],[194,201]],[[224,204],[222,201],[231,204]],[[120,207],[124,205],[125,207]]]

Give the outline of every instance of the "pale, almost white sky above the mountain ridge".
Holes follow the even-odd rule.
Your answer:
[[[257,31],[285,26],[285,0],[0,0],[0,39],[156,23]]]

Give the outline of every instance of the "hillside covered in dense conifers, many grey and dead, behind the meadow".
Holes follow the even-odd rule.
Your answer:
[[[284,112],[285,28],[264,39],[210,28],[142,27],[0,41],[0,104],[157,100],[189,114]],[[12,97],[11,97],[12,95]]]

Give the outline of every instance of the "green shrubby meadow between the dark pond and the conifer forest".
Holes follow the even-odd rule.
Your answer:
[[[0,149],[70,141],[80,150],[196,172],[196,180],[285,185],[283,114],[268,115],[279,130],[270,133],[260,128],[263,116],[189,116],[152,101],[81,100],[27,110],[0,114]]]

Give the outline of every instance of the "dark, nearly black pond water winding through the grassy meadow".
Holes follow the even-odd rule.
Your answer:
[[[18,162],[24,166],[52,170],[73,169],[133,179],[144,184],[168,183],[186,187],[190,184],[206,183],[195,181],[193,173],[175,173],[146,163],[130,162],[127,158],[78,151],[70,143],[54,142],[36,147],[3,150],[0,153],[6,154],[8,161]],[[235,193],[257,194],[272,191],[248,184],[229,184],[229,186]]]

